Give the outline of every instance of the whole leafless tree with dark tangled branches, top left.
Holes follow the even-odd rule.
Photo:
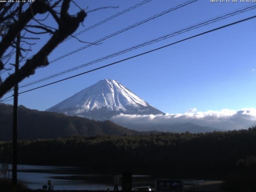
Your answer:
[[[68,13],[70,3],[80,9],[76,15]],[[36,54],[26,60],[18,73],[9,74],[5,80],[0,77],[0,98],[15,84],[34,74],[36,68],[47,66],[47,56],[74,33],[86,17],[86,12],[74,0],[35,0],[29,6],[25,5],[28,2],[0,3],[0,72],[8,70],[7,64],[15,55],[16,37],[20,32],[20,42],[24,45],[20,48],[20,60],[24,60],[31,46],[35,44],[34,41],[39,39],[35,35],[50,34],[51,37]],[[19,10],[22,10],[20,14]],[[48,17],[54,18],[57,27],[47,24]]]

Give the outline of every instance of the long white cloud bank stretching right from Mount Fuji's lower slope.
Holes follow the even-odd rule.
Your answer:
[[[212,128],[234,130],[246,129],[256,125],[256,108],[243,108],[241,110],[222,109],[220,111],[208,110],[206,112],[196,112],[190,109],[183,114],[166,115],[126,115],[120,114],[111,118],[117,124],[150,124],[168,125],[174,123],[190,122],[199,126],[209,126]]]

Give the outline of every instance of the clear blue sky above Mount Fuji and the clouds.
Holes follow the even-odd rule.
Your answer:
[[[84,26],[80,26],[77,32],[141,1],[78,0],[77,3],[81,7],[86,8],[88,6],[87,10],[103,6],[119,6],[119,8],[108,8],[89,13],[84,20]],[[250,4],[245,2],[233,3],[232,0],[230,1],[229,3],[212,3],[210,0],[198,0],[108,40],[104,40],[100,45],[90,46],[45,68],[40,68],[33,76],[26,78],[20,84],[90,62]],[[186,0],[152,0],[78,37],[84,41],[94,42],[184,2]],[[73,5],[70,9],[70,12],[78,12],[78,9]],[[238,14],[220,22],[186,32],[28,88],[34,88],[54,80],[109,64],[110,62],[139,54],[255,14],[256,9]],[[49,19],[48,22],[55,25],[53,19]],[[34,52],[31,52],[29,55],[35,53],[48,38],[48,35],[41,36],[41,40],[33,47]],[[109,78],[118,80],[135,94],[146,100],[146,102],[163,112],[184,113],[190,108],[197,108],[198,111],[222,110],[224,108],[232,110],[256,108],[255,44],[256,19],[252,19],[108,68],[21,94],[19,96],[19,104],[32,109],[46,110],[99,80]],[[84,45],[73,38],[58,46],[48,59],[52,60]],[[20,91],[27,90],[28,88],[20,89]],[[6,96],[9,95],[6,94]],[[12,101],[7,103],[12,104]]]

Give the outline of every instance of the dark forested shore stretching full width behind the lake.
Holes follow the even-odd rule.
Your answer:
[[[11,148],[11,142],[0,142],[0,162],[11,162]],[[18,143],[19,164],[82,166],[85,174],[129,170],[174,178],[220,179],[251,156],[256,165],[255,155],[256,128],[205,134],[73,136]],[[248,169],[252,178],[255,167]]]

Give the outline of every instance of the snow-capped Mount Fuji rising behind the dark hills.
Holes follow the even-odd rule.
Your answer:
[[[116,80],[104,79],[52,106],[46,111],[94,120],[117,114],[164,114]]]

